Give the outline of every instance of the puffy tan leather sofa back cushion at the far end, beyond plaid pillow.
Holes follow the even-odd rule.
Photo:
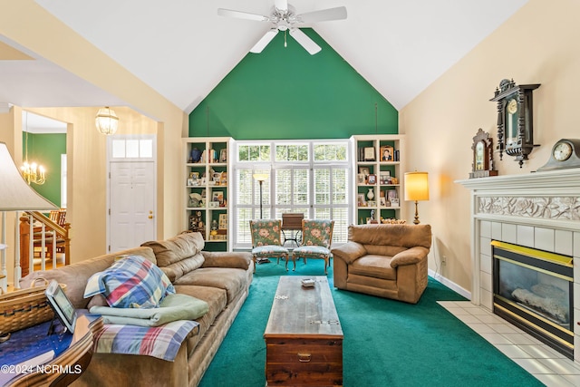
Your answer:
[[[141,246],[151,247],[157,265],[171,282],[203,265],[200,254],[205,242],[198,232],[184,233],[166,240],[145,242]]]

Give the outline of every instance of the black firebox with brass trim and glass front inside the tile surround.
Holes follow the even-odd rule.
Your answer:
[[[493,312],[574,358],[571,256],[493,240]]]

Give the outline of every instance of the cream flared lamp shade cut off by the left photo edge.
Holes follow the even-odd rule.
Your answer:
[[[14,164],[5,142],[0,142],[0,211],[42,211],[57,208],[28,185]]]

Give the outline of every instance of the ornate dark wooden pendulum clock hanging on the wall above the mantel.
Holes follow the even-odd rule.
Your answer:
[[[503,154],[516,158],[522,168],[527,155],[534,147],[534,120],[532,92],[540,84],[517,85],[504,79],[499,82],[494,97],[489,100],[498,102],[498,150],[499,160]]]

